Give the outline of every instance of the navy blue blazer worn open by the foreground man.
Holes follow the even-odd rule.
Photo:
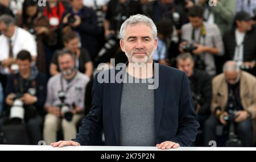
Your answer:
[[[194,111],[189,80],[180,70],[156,64],[159,65],[159,87],[154,90],[156,144],[169,140],[179,143],[180,146],[191,146],[199,123]],[[117,74],[125,69],[123,67],[105,70],[104,73]],[[79,133],[73,141],[90,145],[103,128],[105,145],[119,146],[122,87],[123,84],[117,82],[99,83],[96,75],[92,107],[82,120]]]

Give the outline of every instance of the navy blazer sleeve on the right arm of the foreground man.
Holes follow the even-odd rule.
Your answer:
[[[176,137],[170,141],[179,143],[181,147],[191,146],[196,139],[197,128],[199,128],[199,123],[193,106],[189,80],[183,73],[179,104],[179,127]]]

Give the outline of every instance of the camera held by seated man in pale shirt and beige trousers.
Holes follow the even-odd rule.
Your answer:
[[[72,121],[73,118],[73,113],[71,112],[71,107],[69,107],[69,105],[67,103],[65,103],[65,99],[66,99],[66,94],[63,91],[59,91],[58,92],[58,97],[61,101],[61,104],[59,105],[61,113],[64,114],[64,118],[67,121]]]

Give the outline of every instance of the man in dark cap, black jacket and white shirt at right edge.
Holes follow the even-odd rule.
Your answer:
[[[224,35],[224,45],[225,56],[229,60],[236,61],[243,70],[256,75],[256,30],[252,25],[249,13],[237,13],[232,30]]]

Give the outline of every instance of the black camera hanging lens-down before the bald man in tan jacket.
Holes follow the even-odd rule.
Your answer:
[[[233,108],[233,105],[230,104],[230,108]],[[237,118],[236,110],[229,110],[228,115],[224,116],[223,119],[229,122],[229,131],[228,131],[228,140],[226,142],[227,147],[241,147],[242,142],[237,138],[236,131],[234,128],[234,119]]]

